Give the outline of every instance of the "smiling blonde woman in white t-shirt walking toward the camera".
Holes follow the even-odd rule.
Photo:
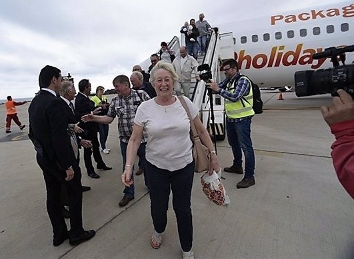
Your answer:
[[[132,164],[140,145],[143,131],[147,133],[146,175],[149,182],[151,216],[154,230],[151,246],[160,248],[161,233],[167,224],[169,194],[172,190],[172,205],[175,211],[182,247],[183,258],[194,258],[192,248],[193,226],[190,208],[193,184],[194,162],[192,142],[190,140],[189,118],[179,99],[172,95],[178,75],[173,66],[160,61],[151,71],[151,82],[157,96],[143,102],[136,111],[133,132],[127,148],[127,161],[122,182],[130,186]],[[196,130],[202,143],[210,150],[211,173],[220,170],[220,163],[215,154],[209,133],[203,126],[199,109],[184,97],[192,115]]]

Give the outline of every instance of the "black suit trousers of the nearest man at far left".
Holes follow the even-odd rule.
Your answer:
[[[47,211],[53,228],[54,238],[62,237],[68,230],[62,214],[61,188],[65,185],[69,196],[70,238],[79,236],[83,231],[82,222],[82,185],[81,170],[76,163],[72,165],[74,177],[65,181],[66,172],[58,168],[55,162],[45,162],[37,154],[37,163],[44,175],[47,190]]]

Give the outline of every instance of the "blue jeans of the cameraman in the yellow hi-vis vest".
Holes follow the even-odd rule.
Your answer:
[[[254,150],[251,140],[251,118],[239,122],[226,122],[227,140],[233,153],[233,166],[242,167],[245,155],[245,178],[254,177]]]

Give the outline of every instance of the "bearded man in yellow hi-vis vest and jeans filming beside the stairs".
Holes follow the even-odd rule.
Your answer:
[[[245,176],[237,188],[248,188],[254,181],[254,150],[251,140],[252,87],[246,76],[239,72],[235,59],[223,63],[226,79],[219,83],[207,83],[207,86],[225,98],[227,140],[233,153],[233,164],[225,167],[229,173],[243,174],[242,152],[245,156]]]

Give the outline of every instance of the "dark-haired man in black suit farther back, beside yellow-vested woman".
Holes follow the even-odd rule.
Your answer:
[[[94,103],[88,97],[91,93],[91,83],[88,79],[82,79],[78,83],[78,90],[80,91],[75,99],[75,115],[78,119],[82,116],[93,112],[93,114],[98,114],[101,107],[95,108]],[[100,153],[100,143],[97,138],[97,132],[99,131],[99,125],[95,122],[83,123],[80,122],[79,126],[84,129],[83,138],[92,143],[91,148],[84,147],[84,161],[88,176],[92,178],[100,178],[100,175],[96,174],[92,166],[91,155],[93,153],[93,158],[97,163],[97,169],[111,170],[112,167],[106,166],[105,162],[102,160]]]

